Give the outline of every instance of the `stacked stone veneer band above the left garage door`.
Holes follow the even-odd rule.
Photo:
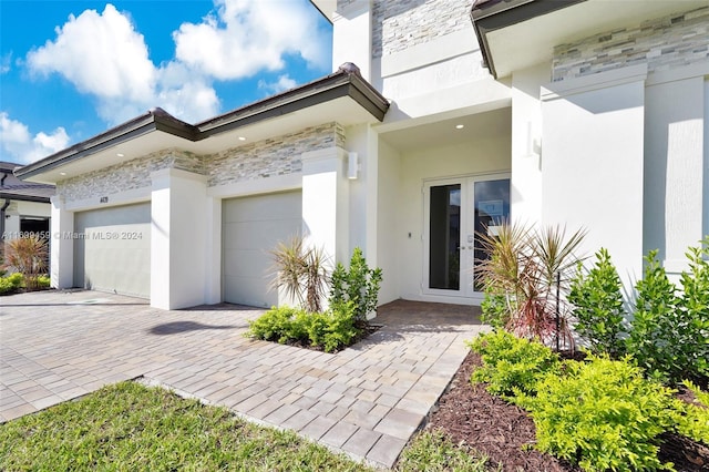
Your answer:
[[[59,182],[56,194],[66,201],[78,201],[143,188],[151,186],[151,173],[169,167],[206,173],[204,157],[182,150],[164,150]]]

